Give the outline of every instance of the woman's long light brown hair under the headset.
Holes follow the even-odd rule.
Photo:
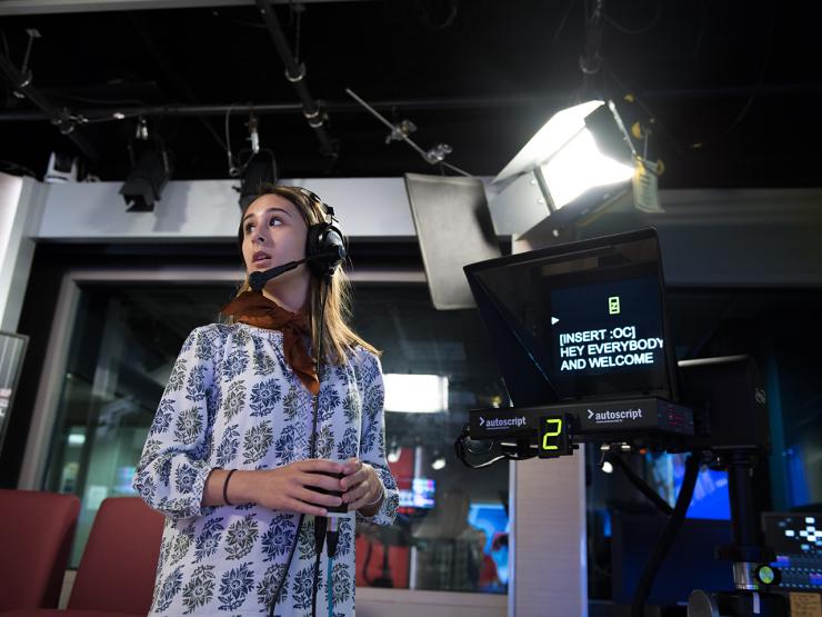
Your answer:
[[[263,195],[277,195],[288,199],[297,208],[297,211],[300,212],[308,227],[319,222],[325,222],[328,219],[324,206],[320,199],[307,189],[287,187],[284,185],[267,185],[260,191],[259,197]],[[240,255],[242,255],[242,221],[240,221],[238,239],[240,242]],[[351,283],[341,267],[331,277],[328,290],[323,292],[324,287],[323,280],[312,272],[305,306],[305,314],[309,327],[311,328],[312,348],[314,350],[318,349],[320,314],[322,312],[322,299],[324,295],[327,296],[322,332],[324,360],[328,364],[340,365],[345,361],[348,354],[353,351],[355,347],[362,347],[373,354],[379,354],[373,346],[360,338],[349,326],[351,319]],[[240,286],[237,295],[239,296],[243,291],[250,290],[251,286],[249,285],[247,272],[245,280]]]

